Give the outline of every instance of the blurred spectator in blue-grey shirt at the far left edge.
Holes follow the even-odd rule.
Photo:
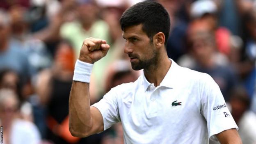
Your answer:
[[[21,80],[21,95],[27,96],[30,89],[30,78],[34,69],[27,59],[25,50],[16,45],[11,39],[9,15],[0,10],[0,69],[11,69],[18,73]]]

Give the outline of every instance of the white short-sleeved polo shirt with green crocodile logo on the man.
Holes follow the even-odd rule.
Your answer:
[[[238,129],[213,78],[174,61],[158,87],[143,74],[92,106],[104,130],[121,121],[125,144],[208,144],[215,134]]]

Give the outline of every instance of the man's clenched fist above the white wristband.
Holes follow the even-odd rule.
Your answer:
[[[109,48],[110,46],[105,40],[95,39],[92,37],[87,38],[82,44],[78,59],[82,62],[93,64],[104,57]]]

